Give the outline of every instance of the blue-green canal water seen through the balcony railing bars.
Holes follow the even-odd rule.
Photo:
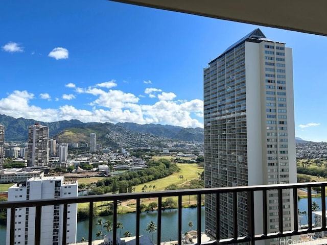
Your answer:
[[[316,202],[319,207],[321,208],[321,198],[312,198],[312,202]],[[327,200],[326,200],[327,202]],[[300,211],[306,211],[308,212],[308,199],[303,198],[298,200],[298,209]],[[204,207],[201,207],[201,231],[204,231],[204,217],[205,216],[205,210]],[[170,210],[164,210],[162,211],[162,217],[161,222],[164,224],[164,227],[161,228],[161,241],[170,241],[170,240],[177,240],[177,217],[178,212],[177,209],[170,209]],[[196,208],[183,208],[182,209],[182,233],[185,233],[190,230],[189,222],[192,221],[194,226],[191,228],[191,230],[197,230],[197,209]],[[106,220],[112,221],[112,215],[101,217],[103,223],[106,222]],[[99,217],[95,217],[93,220],[93,239],[96,238],[96,233],[98,231],[101,231],[101,226],[97,226],[97,221]],[[125,231],[129,231],[132,236],[135,236],[135,220],[136,220],[136,213],[125,213],[125,214],[118,214],[117,220],[121,223],[123,223],[123,229],[119,230],[118,233],[121,233],[121,237],[123,237]],[[301,225],[307,225],[307,218],[302,215],[301,218],[299,218]],[[314,217],[312,217],[312,220],[314,220]],[[140,215],[140,234],[141,235],[149,235],[151,238],[151,234],[146,231],[147,224],[153,221],[154,223],[157,223],[157,212],[143,212]],[[105,229],[102,228],[102,232],[106,234]],[[77,223],[77,241],[80,241],[82,237],[85,237],[87,239],[88,237],[88,220],[82,220]],[[156,240],[156,233],[153,234],[153,240]],[[6,226],[0,226],[0,244],[6,244]]]

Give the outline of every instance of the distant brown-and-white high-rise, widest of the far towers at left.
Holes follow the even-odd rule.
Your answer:
[[[39,124],[29,126],[28,166],[46,166],[49,159],[49,128]]]

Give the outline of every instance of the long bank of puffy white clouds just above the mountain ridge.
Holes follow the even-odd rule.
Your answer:
[[[66,104],[57,108],[41,108],[32,105],[34,94],[28,91],[14,91],[0,100],[0,114],[46,122],[78,119],[83,122],[127,121],[137,124],[154,123],[203,128],[201,118],[196,117],[203,114],[203,101],[201,100],[161,100],[155,104],[141,105],[138,104],[137,96],[121,90],[104,91],[94,87],[76,89],[79,89],[81,94],[89,94],[91,98],[95,97],[88,104],[89,107],[77,109],[72,104]],[[62,99],[68,100],[75,97],[73,94],[65,94],[65,96],[66,98],[63,95]],[[59,99],[55,97],[54,100],[58,101]]]

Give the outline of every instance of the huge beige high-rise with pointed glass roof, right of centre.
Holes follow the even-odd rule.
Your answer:
[[[204,68],[205,187],[295,183],[292,49],[256,29]],[[268,193],[268,229],[278,231],[277,192]],[[261,232],[262,195],[255,194],[255,229]],[[247,195],[238,195],[239,235],[247,234]],[[216,200],[205,200],[205,228],[216,234]],[[284,231],[293,203],[283,193]],[[232,194],[220,197],[220,238],[232,236]],[[261,212],[262,213],[262,212]],[[279,241],[267,241],[279,244]]]

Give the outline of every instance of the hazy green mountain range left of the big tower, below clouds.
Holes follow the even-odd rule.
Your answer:
[[[61,142],[86,143],[89,134],[97,134],[97,143],[109,147],[163,146],[172,141],[201,141],[203,129],[182,128],[170,125],[146,124],[132,122],[81,122],[79,120],[62,120],[43,122],[34,119],[14,118],[0,114],[0,124],[5,128],[6,142],[24,142],[28,140],[28,127],[39,123],[49,127],[49,137]]]

